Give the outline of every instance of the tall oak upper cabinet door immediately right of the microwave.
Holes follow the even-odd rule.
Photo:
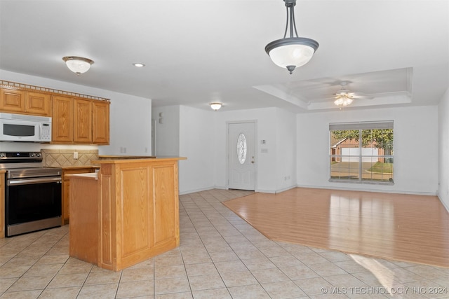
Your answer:
[[[73,102],[72,97],[53,95],[52,143],[73,143]]]

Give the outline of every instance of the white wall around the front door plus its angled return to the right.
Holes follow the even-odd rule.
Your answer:
[[[256,190],[276,193],[295,186],[295,114],[277,108],[217,111],[215,118],[215,186],[227,188],[227,123],[255,120]],[[266,144],[262,145],[261,141]],[[283,141],[281,141],[283,140]],[[283,147],[286,148],[283,148]],[[288,148],[290,146],[290,148]],[[266,152],[262,153],[262,148]]]

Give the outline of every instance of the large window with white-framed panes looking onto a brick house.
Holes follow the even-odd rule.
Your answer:
[[[393,121],[333,123],[330,181],[393,183]]]

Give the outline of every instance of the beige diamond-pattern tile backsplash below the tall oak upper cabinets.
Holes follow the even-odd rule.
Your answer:
[[[73,153],[78,152],[78,159]],[[91,161],[98,160],[98,150],[73,149],[42,149],[43,163],[46,167],[69,167],[91,165]]]

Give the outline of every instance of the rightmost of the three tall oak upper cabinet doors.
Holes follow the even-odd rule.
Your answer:
[[[109,144],[109,102],[92,102],[92,142]]]

